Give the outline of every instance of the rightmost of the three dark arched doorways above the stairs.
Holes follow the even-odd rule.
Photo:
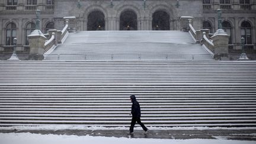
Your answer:
[[[169,14],[165,11],[156,11],[152,15],[152,30],[170,30]]]

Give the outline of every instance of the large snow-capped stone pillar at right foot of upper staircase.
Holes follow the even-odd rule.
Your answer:
[[[228,57],[228,34],[215,33],[211,37],[214,44],[215,59],[221,59],[221,57]]]

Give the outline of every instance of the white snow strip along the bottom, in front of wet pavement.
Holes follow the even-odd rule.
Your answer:
[[[225,139],[129,139],[129,138],[116,138],[116,137],[93,137],[93,136],[67,136],[67,135],[41,135],[31,133],[0,133],[1,144],[80,144],[80,143],[111,143],[111,144],[150,144],[150,143],[162,143],[162,144],[255,144],[255,141],[246,140],[225,140]]]

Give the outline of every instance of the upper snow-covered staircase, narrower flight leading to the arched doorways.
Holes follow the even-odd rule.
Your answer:
[[[213,59],[182,31],[79,31],[50,52],[45,60]]]

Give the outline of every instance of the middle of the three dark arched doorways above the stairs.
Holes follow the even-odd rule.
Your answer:
[[[137,30],[137,15],[127,10],[120,15],[120,30]]]

